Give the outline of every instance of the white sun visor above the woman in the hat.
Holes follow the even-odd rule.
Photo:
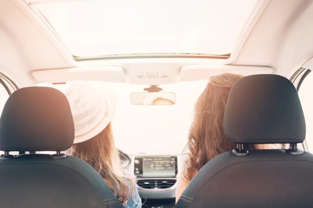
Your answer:
[[[125,82],[124,70],[118,66],[76,67],[33,71],[38,82],[64,83],[74,80]]]

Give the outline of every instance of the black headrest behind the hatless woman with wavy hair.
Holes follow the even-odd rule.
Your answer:
[[[229,92],[224,129],[234,143],[301,143],[305,119],[294,85],[279,75],[240,78]]]

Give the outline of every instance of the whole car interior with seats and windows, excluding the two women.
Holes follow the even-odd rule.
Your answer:
[[[1,0],[0,205],[124,207],[64,152],[74,124],[62,91],[86,80],[116,94],[115,147],[142,207],[312,207],[312,25],[313,0]],[[237,149],[176,204],[195,102],[226,72],[244,75],[224,114]]]

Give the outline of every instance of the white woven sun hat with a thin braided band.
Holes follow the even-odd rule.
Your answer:
[[[113,118],[117,104],[113,92],[97,90],[84,80],[76,80],[63,93],[69,101],[73,115],[74,144],[93,138]]]

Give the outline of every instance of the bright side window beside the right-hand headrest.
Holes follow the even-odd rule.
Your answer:
[[[301,101],[305,123],[305,141],[309,152],[313,152],[313,72],[309,72],[303,79],[299,88],[299,98]]]

